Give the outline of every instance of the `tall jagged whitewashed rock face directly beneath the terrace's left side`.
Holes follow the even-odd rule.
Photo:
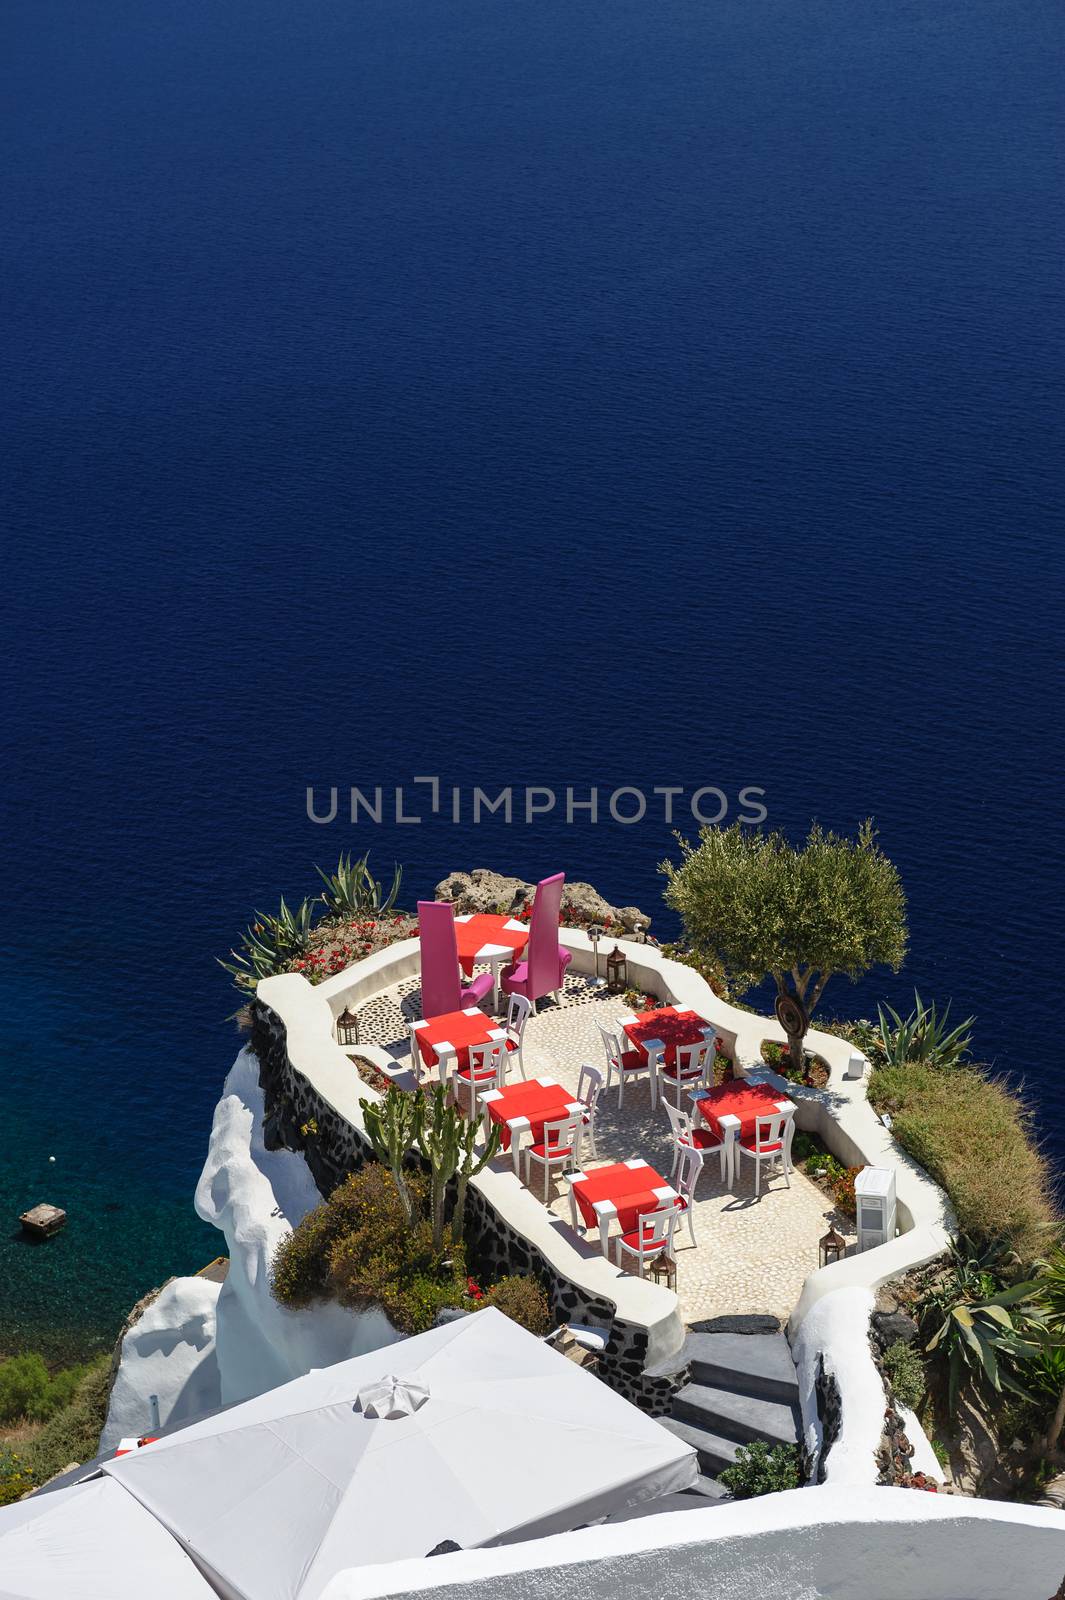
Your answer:
[[[217,1299],[221,1403],[233,1405],[400,1334],[381,1310],[288,1310],[270,1293],[278,1243],[321,1202],[302,1155],[262,1142],[259,1064],[243,1050],[214,1110],[195,1206],[225,1235],[229,1275]]]

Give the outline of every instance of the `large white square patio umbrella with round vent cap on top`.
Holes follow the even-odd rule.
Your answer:
[[[489,1309],[272,1389],[104,1472],[224,1600],[580,1526],[694,1483],[694,1451]]]

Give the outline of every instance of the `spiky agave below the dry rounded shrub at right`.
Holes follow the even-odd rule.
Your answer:
[[[1047,1317],[1038,1282],[1001,1286],[1004,1259],[1001,1245],[975,1256],[964,1242],[951,1245],[950,1270],[921,1302],[921,1325],[931,1330],[924,1350],[947,1362],[951,1411],[963,1384],[1028,1398],[1015,1373],[1039,1358]]]

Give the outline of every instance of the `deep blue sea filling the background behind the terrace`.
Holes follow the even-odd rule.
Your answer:
[[[660,803],[309,784],[873,814],[910,960],[824,1011],[977,1013],[1065,1163],[1063,45],[1057,0],[8,0],[0,1349],[217,1253],[214,957],[315,862],[660,907]]]

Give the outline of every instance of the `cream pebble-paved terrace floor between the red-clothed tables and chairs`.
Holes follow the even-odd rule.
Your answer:
[[[360,1037],[366,1043],[408,1054],[408,1022],[421,1016],[417,979],[377,995],[358,1013]],[[550,1077],[577,1086],[580,1062],[604,1069],[598,1024],[609,1024],[625,1011],[617,995],[606,995],[584,978],[568,978],[561,1003],[542,1005],[529,1018],[525,1035],[528,1077]],[[681,1101],[681,1104],[686,1104]],[[641,1157],[668,1181],[672,1166],[670,1125],[659,1104],[651,1110],[648,1082],[628,1083],[624,1109],[617,1109],[617,1086],[600,1098],[596,1142],[600,1162]],[[510,1165],[510,1157],[499,1157]],[[542,1171],[532,1168],[532,1182],[542,1194]],[[552,1186],[552,1211],[569,1224],[569,1187],[564,1179]],[[686,1322],[736,1312],[771,1312],[785,1318],[795,1306],[806,1275],[817,1266],[817,1240],[835,1226],[852,1237],[852,1222],[832,1210],[832,1202],[803,1173],[792,1173],[792,1187],[776,1176],[755,1198],[753,1162],[744,1162],[737,1187],[729,1192],[718,1176],[718,1158],[708,1157],[696,1200],[696,1240],[688,1222],[673,1235],[676,1290]],[[593,1235],[588,1235],[593,1240]]]

